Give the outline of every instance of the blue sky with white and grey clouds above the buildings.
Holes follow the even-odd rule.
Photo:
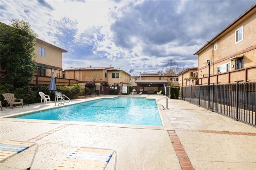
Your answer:
[[[63,69],[112,65],[131,75],[165,70],[193,55],[256,1],[0,0],[0,21],[29,22],[38,38],[66,49]]]

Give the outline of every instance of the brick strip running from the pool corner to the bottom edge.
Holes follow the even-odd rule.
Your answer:
[[[172,144],[173,144],[174,150],[176,152],[176,155],[179,159],[181,169],[182,170],[194,170],[186,151],[184,150],[182,144],[180,143],[180,140],[179,140],[177,134],[171,130],[168,130],[168,134],[170,136],[170,139],[172,140]]]

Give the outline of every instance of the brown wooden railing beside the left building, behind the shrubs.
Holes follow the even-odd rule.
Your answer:
[[[34,75],[34,80],[31,81],[30,84],[48,85],[50,83],[50,80],[51,80],[51,77],[48,77],[48,76]],[[74,85],[74,84],[78,84],[78,80],[55,77],[55,83],[56,85]]]

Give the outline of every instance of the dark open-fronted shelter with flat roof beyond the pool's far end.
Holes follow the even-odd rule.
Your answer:
[[[164,91],[164,86],[168,83],[167,80],[136,80],[137,91],[142,91],[143,94],[148,93],[148,91],[156,92],[162,90]]]

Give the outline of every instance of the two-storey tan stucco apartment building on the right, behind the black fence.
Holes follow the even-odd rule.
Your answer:
[[[198,84],[256,81],[256,4],[208,41],[198,55]]]

